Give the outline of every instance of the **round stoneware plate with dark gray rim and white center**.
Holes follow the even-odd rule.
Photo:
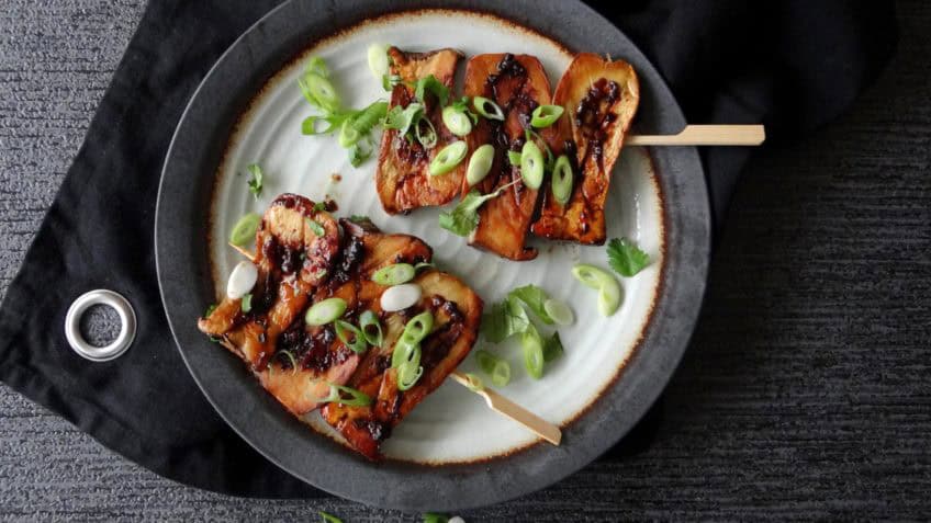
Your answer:
[[[271,462],[325,491],[418,511],[473,508],[536,491],[616,444],[658,398],[685,351],[710,248],[698,155],[694,148],[625,149],[609,191],[608,236],[633,238],[652,263],[633,278],[619,278],[624,305],[612,318],[599,318],[594,294],[577,285],[569,269],[579,261],[606,266],[604,248],[537,242],[537,260],[500,261],[436,227],[437,209],[385,215],[372,196],[374,160],[354,170],[335,139],[301,136],[300,122],[312,114],[294,82],[304,59],[323,56],[347,104],[361,106],[384,96],[366,66],[372,42],[411,50],[449,46],[467,55],[535,54],[553,86],[574,52],[622,58],[640,78],[633,130],[675,133],[685,125],[657,70],[581,2],[285,2],[220,58],[188,105],[168,152],[155,236],[171,331],[191,375],[229,425]],[[267,173],[259,198],[238,175],[256,160]],[[341,173],[338,185],[333,172]],[[385,230],[424,238],[438,264],[473,285],[486,306],[526,283],[572,305],[576,321],[560,330],[563,359],[540,382],[520,374],[520,360],[514,359],[519,372],[502,389],[560,424],[562,444],[538,442],[453,383],[444,384],[396,428],[384,446],[389,459],[380,464],[348,451],[318,419],[309,416],[305,424],[287,413],[237,359],[198,331],[195,321],[216,300],[237,261],[224,246],[231,225],[245,212],[261,213],[281,192],[312,200],[330,194],[340,216],[368,214]],[[471,360],[460,368],[472,371]]]

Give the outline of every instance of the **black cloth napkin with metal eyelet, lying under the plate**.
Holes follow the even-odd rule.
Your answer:
[[[399,2],[400,3],[400,2]],[[153,0],[83,147],[0,308],[0,379],[103,445],[165,477],[257,497],[322,493],[244,443],[173,346],[153,252],[159,174],[188,100],[274,0]],[[337,4],[338,5],[338,4]],[[692,123],[758,123],[772,140],[846,107],[895,49],[891,2],[598,2],[664,75]],[[703,151],[718,224],[747,149]],[[68,348],[65,311],[111,288],[136,309],[136,341],[91,363]],[[661,407],[661,406],[660,406]],[[643,448],[654,408],[610,455]]]

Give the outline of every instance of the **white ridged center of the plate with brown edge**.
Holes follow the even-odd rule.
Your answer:
[[[441,229],[437,225],[440,208],[389,216],[374,190],[375,158],[352,168],[335,136],[301,134],[301,122],[316,114],[298,88],[306,58],[319,56],[326,60],[344,103],[354,107],[388,98],[367,66],[366,52],[371,43],[418,52],[455,47],[467,57],[502,52],[531,54],[542,61],[552,87],[571,60],[560,44],[490,15],[434,11],[410,14],[403,23],[397,22],[396,18],[373,21],[319,41],[258,91],[231,134],[216,172],[210,223],[215,288],[225,288],[226,276],[239,260],[226,239],[240,216],[263,213],[280,193],[298,193],[314,201],[330,196],[338,203],[337,216],[368,215],[385,231],[407,232],[426,240],[434,248],[437,264],[469,283],[486,307],[525,284],[539,285],[570,304],[576,321],[559,328],[565,354],[547,366],[540,380],[527,376],[516,342],[492,345],[480,339],[476,343],[476,349],[492,350],[511,361],[513,379],[502,394],[545,419],[565,425],[617,378],[653,310],[663,264],[664,213],[652,162],[644,149],[626,148],[613,173],[606,207],[608,238],[636,241],[650,254],[652,263],[632,278],[618,276],[624,304],[610,318],[598,314],[596,293],[570,273],[579,262],[608,269],[605,247],[532,239],[531,245],[539,249],[538,258],[514,262],[473,249],[464,239]],[[457,92],[461,92],[461,86]],[[254,162],[266,174],[258,198],[247,187],[246,167]],[[551,330],[541,329],[545,334]],[[460,368],[478,372],[471,355]],[[339,437],[318,414],[310,416],[307,421],[316,430]],[[491,411],[481,398],[448,380],[393,431],[382,450],[391,458],[446,464],[509,454],[535,442],[532,433]]]

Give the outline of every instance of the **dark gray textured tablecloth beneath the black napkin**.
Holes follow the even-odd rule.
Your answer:
[[[0,0],[0,294],[77,152],[141,0]],[[853,111],[734,195],[652,447],[474,521],[931,518],[931,4]],[[0,519],[415,521],[161,479],[0,386]]]

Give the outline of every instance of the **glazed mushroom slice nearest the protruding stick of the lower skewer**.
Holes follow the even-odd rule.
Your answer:
[[[383,348],[370,349],[348,383],[373,402],[366,407],[328,403],[322,409],[326,422],[356,451],[373,461],[381,458],[380,445],[392,429],[469,354],[479,332],[482,300],[459,278],[428,270],[414,283],[423,289],[420,300],[399,312],[382,311]],[[406,322],[426,310],[433,314],[434,325],[420,342],[423,375],[413,387],[400,390],[392,354]]]

